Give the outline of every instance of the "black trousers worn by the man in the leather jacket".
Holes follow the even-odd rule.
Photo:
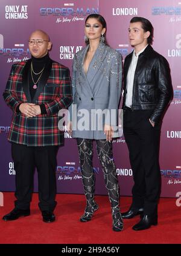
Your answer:
[[[135,182],[131,207],[144,207],[144,213],[148,215],[157,214],[160,195],[160,124],[151,126],[152,111],[126,108],[123,115],[123,132]]]

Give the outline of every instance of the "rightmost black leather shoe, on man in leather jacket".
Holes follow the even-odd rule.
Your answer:
[[[141,221],[139,221],[138,224],[132,227],[133,230],[135,231],[142,231],[144,229],[149,229],[151,225],[156,226],[157,225],[157,215],[154,217],[148,216],[144,214],[141,218]]]

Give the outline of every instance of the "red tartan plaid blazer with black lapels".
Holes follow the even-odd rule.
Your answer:
[[[69,69],[49,59],[31,99],[30,64],[31,59],[13,64],[3,93],[5,102],[13,110],[8,140],[27,146],[62,145],[64,133],[58,128],[58,112],[72,103]],[[45,104],[47,113],[27,118],[21,112],[16,112],[20,103]]]

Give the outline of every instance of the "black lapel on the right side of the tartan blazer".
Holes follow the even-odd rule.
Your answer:
[[[43,70],[43,74],[38,83],[36,93],[32,99],[32,103],[36,103],[36,100],[39,98],[40,93],[43,91],[46,81],[48,80],[51,67],[52,67],[52,60],[49,59],[48,62],[46,63],[45,69]]]

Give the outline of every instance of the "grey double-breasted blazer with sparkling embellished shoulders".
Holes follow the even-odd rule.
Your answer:
[[[106,139],[104,124],[117,124],[122,56],[100,42],[86,74],[83,63],[88,49],[89,45],[76,53],[73,62],[72,136],[101,140]]]

